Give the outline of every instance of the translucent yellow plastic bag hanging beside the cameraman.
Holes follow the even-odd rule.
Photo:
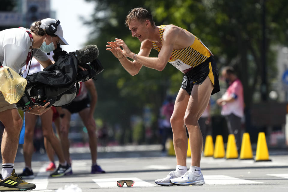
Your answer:
[[[26,79],[10,67],[0,68],[0,91],[8,103],[17,103],[23,96],[26,85]]]

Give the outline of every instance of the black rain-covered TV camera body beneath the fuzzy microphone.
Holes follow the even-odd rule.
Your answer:
[[[80,63],[75,52],[63,51],[60,44],[53,51],[55,64],[26,77],[27,85],[24,95],[17,102],[22,111],[29,111],[35,105],[63,107],[70,104],[79,91],[79,82],[96,80],[96,75],[104,70],[96,58],[88,63]],[[87,69],[82,70],[79,66]],[[48,107],[49,107],[48,106]]]

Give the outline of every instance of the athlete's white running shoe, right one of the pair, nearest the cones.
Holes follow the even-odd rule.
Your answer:
[[[187,171],[181,177],[170,179],[170,183],[175,185],[202,185],[205,181],[202,173],[197,174]]]

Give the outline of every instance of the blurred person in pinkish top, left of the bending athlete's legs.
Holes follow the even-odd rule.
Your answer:
[[[172,96],[167,97],[167,102],[161,108],[161,128],[162,128],[162,151],[165,151],[166,140],[170,137],[173,138],[170,118],[174,110],[174,99]]]

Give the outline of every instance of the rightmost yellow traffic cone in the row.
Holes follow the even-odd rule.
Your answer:
[[[269,153],[264,132],[260,132],[258,134],[255,161],[271,161],[269,159]]]

